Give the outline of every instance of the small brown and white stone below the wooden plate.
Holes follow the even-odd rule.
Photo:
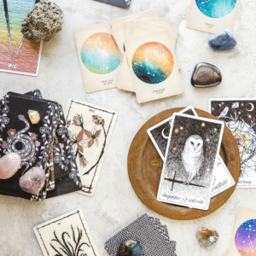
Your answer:
[[[207,228],[200,228],[196,231],[196,238],[201,247],[210,247],[218,241],[218,232],[215,230],[207,230]]]

